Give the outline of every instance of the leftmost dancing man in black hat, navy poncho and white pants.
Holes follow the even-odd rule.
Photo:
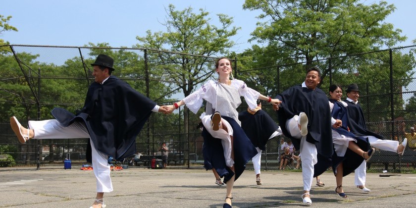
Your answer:
[[[152,111],[166,112],[126,82],[111,75],[113,59],[98,55],[92,63],[95,82],[88,89],[84,107],[73,114],[54,108],[55,119],[29,121],[29,129],[16,117],[10,125],[21,143],[29,139],[89,138],[87,161],[93,163],[97,179],[97,196],[91,208],[105,207],[104,192],[113,191],[109,156],[120,160],[136,153],[136,136]]]

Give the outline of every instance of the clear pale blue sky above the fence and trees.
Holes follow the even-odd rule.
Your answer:
[[[386,1],[396,6],[386,22],[408,37],[399,46],[412,45],[416,39],[416,1]],[[19,31],[3,32],[0,39],[10,44],[84,46],[105,42],[112,47],[132,47],[138,43],[136,36],[145,36],[147,30],[164,31],[160,23],[169,3],[178,10],[191,6],[195,13],[203,8],[210,13],[212,24],[217,22],[217,13],[234,17],[234,25],[241,30],[233,38],[238,45],[232,51],[250,48],[248,39],[260,11],[243,10],[244,0],[6,0],[1,2],[0,14],[11,15],[9,24]]]

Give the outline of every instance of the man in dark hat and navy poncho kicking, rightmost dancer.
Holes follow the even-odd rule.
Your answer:
[[[358,85],[355,83],[350,84],[347,88],[347,99],[344,101],[348,104],[348,127],[350,128],[350,131],[355,135],[367,137],[368,142],[372,147],[403,155],[407,139],[404,139],[403,143],[399,145],[398,141],[384,140],[383,136],[367,130],[363,109],[358,103],[359,97],[360,90],[358,89]],[[357,188],[363,190],[363,192],[370,192],[370,190],[365,187],[365,166],[366,162],[364,160],[355,170],[355,185]]]

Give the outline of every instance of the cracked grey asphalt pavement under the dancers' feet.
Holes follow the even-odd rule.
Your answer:
[[[315,208],[415,207],[416,174],[380,177],[367,173],[364,193],[354,185],[354,173],[344,177],[348,198],[335,193],[335,177],[325,172],[324,187],[311,190]],[[389,174],[389,173],[385,173]],[[0,208],[89,208],[96,195],[91,170],[0,170]],[[226,188],[216,185],[211,171],[202,169],[128,168],[111,172],[114,191],[104,194],[107,208],[216,208],[222,207]],[[305,207],[301,172],[246,170],[234,183],[234,208]]]

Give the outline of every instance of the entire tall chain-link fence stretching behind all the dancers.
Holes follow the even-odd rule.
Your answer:
[[[402,141],[405,132],[410,133],[410,127],[416,125],[415,49],[415,46],[398,48],[250,70],[239,70],[233,60],[234,76],[263,95],[274,96],[301,84],[308,66],[318,66],[323,75],[320,87],[325,92],[330,83],[345,88],[358,83],[367,127],[387,139]],[[88,86],[94,81],[90,64],[100,53],[114,58],[113,75],[159,105],[180,101],[202,83],[217,78],[213,73],[216,57],[148,49],[2,46],[0,166],[7,167],[1,169],[63,168],[63,159],[67,157],[77,167],[86,164],[87,139],[30,140],[20,144],[8,119],[15,115],[24,125],[28,120],[52,119],[53,107],[73,112],[82,108]],[[239,111],[246,108],[243,102]],[[264,105],[263,110],[277,120],[270,105]],[[203,111],[202,107],[200,113]],[[161,144],[166,143],[169,168],[203,168],[203,138],[196,128],[200,113],[190,113],[184,107],[169,115],[153,113],[136,139],[137,151],[142,156],[117,163],[148,167],[152,158],[161,157]],[[281,139],[286,138],[268,142],[261,158],[263,169],[279,168]],[[415,148],[412,141],[409,147]],[[368,166],[414,170],[416,151],[411,148],[404,156],[377,151]],[[296,162],[289,166],[295,168]],[[250,162],[248,168],[252,168]]]

